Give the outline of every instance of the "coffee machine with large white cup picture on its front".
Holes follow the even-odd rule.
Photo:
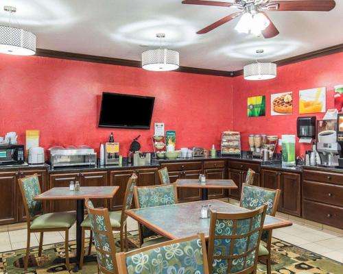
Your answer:
[[[338,142],[337,129],[337,119],[317,121],[317,151],[322,160],[322,166],[338,166],[338,159],[342,158],[342,148]]]

